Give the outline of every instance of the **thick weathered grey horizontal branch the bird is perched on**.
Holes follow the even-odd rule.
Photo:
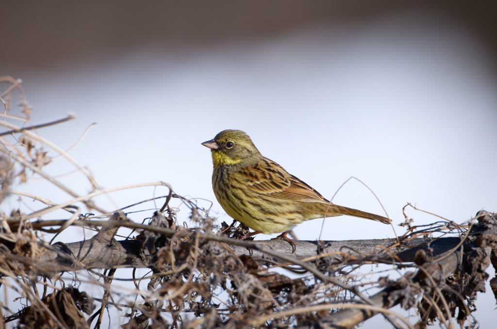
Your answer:
[[[32,223],[34,228],[39,228],[42,225],[62,225],[64,221],[37,221]],[[82,221],[77,220],[74,224],[76,225],[102,225],[107,223],[111,225],[109,221]],[[155,227],[152,225],[142,225],[134,222],[116,222],[117,226],[126,226],[131,228],[140,228],[155,231],[158,233],[173,235],[179,234],[179,236],[186,236],[191,234],[190,231],[175,231],[168,228]],[[291,254],[291,247],[286,241],[282,240],[262,240],[256,242],[240,241],[236,239],[230,239],[223,236],[215,235],[202,235],[201,238],[206,240],[214,240],[226,243],[233,248],[233,251],[237,255],[248,255],[249,249],[251,249],[252,257],[255,258],[268,258],[268,255],[262,251],[259,251],[257,246],[264,246],[270,248],[274,252],[281,254]],[[459,238],[448,237],[440,238],[435,241],[429,239],[416,238],[409,242],[404,243],[402,246],[395,247],[392,252],[398,257],[398,260],[402,262],[413,262],[414,255],[418,250],[426,249],[427,243],[430,242],[429,247],[433,249],[433,256],[441,256],[444,253],[453,249],[460,242]],[[317,242],[316,241],[295,241],[297,246],[297,251],[292,256],[297,259],[308,259],[317,256]],[[324,253],[336,253],[337,257],[341,253],[343,255],[349,255],[351,257],[360,257],[366,255],[371,255],[375,253],[380,253],[384,248],[391,246],[396,243],[395,239],[379,239],[379,240],[348,240],[348,241],[324,241],[326,249]],[[91,239],[87,241],[79,241],[69,244],[56,244],[53,246],[55,251],[48,251],[41,259],[44,262],[56,262],[60,265],[67,266],[72,264],[70,261],[72,257],[75,257],[78,261],[84,263],[86,268],[112,268],[112,267],[143,267],[147,266],[142,260],[138,258],[140,253],[144,253],[150,256],[148,251],[142,251],[141,241],[137,240],[125,240],[125,241],[115,241],[113,243],[100,243],[97,239]],[[360,253],[360,254],[359,254]],[[67,259],[61,257],[61,254],[66,254]],[[271,257],[272,259],[272,257]],[[279,263],[285,263],[284,260],[273,259],[273,261]],[[385,261],[390,261],[389,258],[385,258]],[[105,265],[105,266],[104,266]]]

